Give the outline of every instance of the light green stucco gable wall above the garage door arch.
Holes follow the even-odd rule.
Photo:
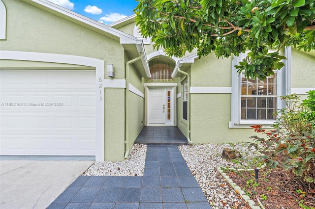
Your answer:
[[[7,40],[1,50],[93,57],[115,66],[124,78],[124,48],[120,43],[18,0],[3,0],[7,9]]]

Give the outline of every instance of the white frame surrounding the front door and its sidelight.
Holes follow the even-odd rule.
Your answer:
[[[149,124],[148,123],[148,99],[149,87],[171,87],[173,88],[173,101],[174,101],[174,118],[172,124]],[[145,87],[145,126],[177,126],[177,83],[144,83]]]

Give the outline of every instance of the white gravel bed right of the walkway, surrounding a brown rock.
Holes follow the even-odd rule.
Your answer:
[[[203,144],[179,146],[182,156],[187,162],[192,175],[197,180],[208,202],[213,209],[243,208],[245,201],[219,174],[217,167],[231,167],[235,169],[248,168],[256,155],[254,149],[249,150],[247,143],[238,144]],[[236,149],[247,161],[234,163],[221,157],[223,148]]]

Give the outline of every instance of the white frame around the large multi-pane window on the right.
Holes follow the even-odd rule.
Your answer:
[[[239,65],[247,53],[242,53],[240,56],[234,56],[232,61],[232,108],[231,108],[231,122],[229,122],[229,128],[250,128],[251,125],[264,125],[265,127],[271,127],[276,120],[242,120],[241,119],[241,86],[242,86],[242,75],[237,73],[235,65]],[[289,59],[290,57],[287,57]],[[284,103],[281,101],[279,96],[285,95],[286,79],[285,73],[286,66],[281,70],[276,70],[277,73],[277,109],[284,108]]]

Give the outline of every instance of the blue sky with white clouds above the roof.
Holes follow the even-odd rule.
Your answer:
[[[49,0],[93,20],[110,24],[133,15],[136,0]]]

